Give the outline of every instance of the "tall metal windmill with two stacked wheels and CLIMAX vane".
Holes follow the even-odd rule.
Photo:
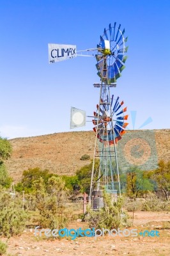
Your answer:
[[[116,143],[125,134],[128,115],[125,115],[127,108],[123,107],[123,100],[110,93],[110,89],[116,87],[116,79],[121,76],[127,60],[127,38],[124,37],[125,29],[121,31],[120,27],[121,25],[116,26],[116,22],[114,26],[109,24],[109,28],[104,29],[104,34],[100,36],[97,48],[93,49],[76,51],[76,45],[49,44],[49,63],[76,56],[93,56],[90,53],[97,51],[95,57],[100,83],[93,85],[100,89],[100,93],[97,109],[91,116],[96,136],[89,191],[89,205],[93,210],[104,206],[103,189],[114,198],[121,196]],[[77,116],[81,116],[80,113]],[[80,119],[77,124],[81,122],[84,123]],[[99,159],[98,166],[95,164],[96,159]]]

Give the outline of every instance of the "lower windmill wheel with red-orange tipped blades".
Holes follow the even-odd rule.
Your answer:
[[[111,102],[101,99],[100,106],[97,104],[97,111],[94,112],[95,119],[92,120],[95,125],[93,131],[97,132],[97,138],[102,143],[109,141],[109,145],[112,145],[114,140],[118,143],[125,134],[125,128],[128,125],[125,120],[128,119],[128,115],[124,113],[127,108],[122,108],[124,102],[119,102],[119,99],[120,97],[114,100],[114,95],[112,95]]]

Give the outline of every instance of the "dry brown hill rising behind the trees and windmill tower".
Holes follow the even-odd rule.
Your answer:
[[[22,177],[24,170],[35,167],[72,175],[90,163],[90,160],[82,161],[82,155],[88,154],[93,159],[95,132],[61,132],[16,138],[10,143],[13,154],[6,166],[15,181]],[[160,159],[170,159],[170,129],[127,131],[119,141],[117,151],[121,168],[137,164],[144,170],[153,169]]]

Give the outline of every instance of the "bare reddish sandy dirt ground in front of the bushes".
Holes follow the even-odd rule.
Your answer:
[[[132,216],[132,212],[128,213]],[[73,222],[69,228],[88,228],[87,223]],[[50,255],[170,255],[170,212],[135,212],[132,228],[137,232],[158,230],[159,237],[77,237],[75,240],[45,239],[34,235],[34,230],[24,230],[19,237],[8,240],[9,256]],[[123,229],[123,228],[122,228]],[[6,238],[3,237],[3,241]]]

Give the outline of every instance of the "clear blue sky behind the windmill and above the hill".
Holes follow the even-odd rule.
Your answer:
[[[169,128],[169,0],[1,0],[0,135],[7,138],[70,131],[70,107],[93,115],[99,91],[95,58],[48,63],[48,43],[97,47],[109,23],[128,36],[128,60],[117,88],[135,128]],[[130,121],[130,120],[129,120]],[[129,126],[130,127],[130,126]],[[132,127],[132,125],[131,125]],[[81,129],[89,131],[93,124]]]

